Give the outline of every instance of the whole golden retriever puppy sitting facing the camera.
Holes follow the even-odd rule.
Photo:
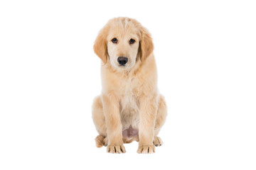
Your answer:
[[[153,153],[166,119],[166,103],[157,89],[151,35],[131,18],[113,18],[95,40],[102,60],[102,94],[92,105],[96,146],[124,153],[124,143],[139,142],[138,153]]]

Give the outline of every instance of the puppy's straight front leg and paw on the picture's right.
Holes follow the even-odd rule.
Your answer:
[[[139,108],[139,148],[138,153],[151,154],[155,152],[153,145],[154,125],[156,121],[156,100],[144,97]]]

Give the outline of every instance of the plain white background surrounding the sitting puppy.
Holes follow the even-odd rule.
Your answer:
[[[154,38],[156,154],[95,147],[92,46],[117,16]],[[253,1],[1,1],[0,169],[256,169],[255,30]]]

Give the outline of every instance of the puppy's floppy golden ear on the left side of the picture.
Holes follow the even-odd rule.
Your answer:
[[[95,54],[100,57],[103,63],[107,62],[107,28],[102,28],[100,30],[99,35],[97,35],[97,38],[95,40],[95,44],[93,46],[93,49],[95,51]]]

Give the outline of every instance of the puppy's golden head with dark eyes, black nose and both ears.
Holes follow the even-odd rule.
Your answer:
[[[95,40],[94,51],[104,64],[116,69],[132,69],[138,60],[144,62],[154,45],[149,31],[131,18],[113,18]]]

